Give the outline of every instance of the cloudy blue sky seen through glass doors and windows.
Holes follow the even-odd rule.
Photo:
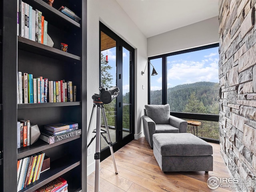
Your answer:
[[[102,51],[108,55],[108,64],[112,66],[111,86],[116,86],[116,48]],[[218,47],[169,56],[167,58],[167,87],[200,81],[219,82]],[[150,90],[162,89],[162,59],[150,61],[158,75],[150,76]],[[129,92],[129,52],[123,48],[123,94]],[[147,70],[147,68],[146,68]],[[152,66],[150,72],[152,73]]]

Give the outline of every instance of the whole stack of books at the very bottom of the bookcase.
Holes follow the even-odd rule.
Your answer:
[[[64,178],[58,177],[34,192],[68,192],[68,183]]]

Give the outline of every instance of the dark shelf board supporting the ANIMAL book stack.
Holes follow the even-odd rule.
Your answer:
[[[47,142],[45,142],[41,139],[38,139],[37,142],[35,142],[34,144],[32,144],[30,146],[19,148],[18,149],[18,154],[17,154],[17,159],[24,158],[26,156],[38,153],[40,151],[43,151],[43,150],[46,150],[46,149],[64,144],[66,142],[70,142],[72,140],[76,140],[80,137],[81,137],[81,135],[77,135],[77,136],[67,138],[65,140],[62,140],[62,141],[59,141],[59,142],[56,142],[56,143],[53,143],[53,144],[48,144]]]

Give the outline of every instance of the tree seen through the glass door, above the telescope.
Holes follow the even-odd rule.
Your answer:
[[[100,80],[101,86],[104,88],[108,88],[112,83],[113,77],[110,74],[109,70],[112,69],[112,66],[108,64],[106,60],[106,56],[102,53],[100,54]]]

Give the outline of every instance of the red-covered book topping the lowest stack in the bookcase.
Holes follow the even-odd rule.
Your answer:
[[[34,192],[56,192],[56,190],[60,189],[66,184],[67,181],[64,178],[58,177],[51,182],[45,184],[44,186],[40,187],[39,189],[35,190]],[[49,186],[51,187],[49,188]]]

